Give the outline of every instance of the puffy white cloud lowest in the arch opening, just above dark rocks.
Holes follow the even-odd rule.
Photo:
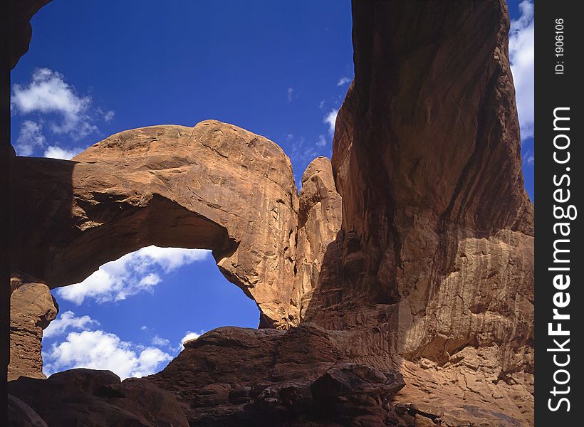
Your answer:
[[[125,379],[154,374],[172,356],[157,347],[135,346],[103,330],[71,332],[43,352],[43,371],[50,375],[73,368],[109,369]]]

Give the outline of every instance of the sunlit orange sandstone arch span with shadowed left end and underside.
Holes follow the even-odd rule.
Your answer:
[[[13,170],[14,270],[56,288],[144,246],[212,249],[262,326],[286,325],[298,196],[268,139],[212,120],[145,127],[73,161],[16,157]]]

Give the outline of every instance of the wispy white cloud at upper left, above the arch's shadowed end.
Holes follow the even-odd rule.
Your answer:
[[[83,138],[97,130],[88,115],[90,105],[90,96],[75,93],[61,73],[49,68],[34,70],[28,86],[16,84],[12,87],[11,107],[14,110],[22,114],[57,113],[61,115],[61,123],[51,123],[51,130],[73,139]]]

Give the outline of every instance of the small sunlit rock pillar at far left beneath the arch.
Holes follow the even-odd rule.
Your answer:
[[[51,290],[26,277],[11,279],[10,364],[8,379],[19,376],[46,378],[43,374],[41,339],[43,329],[58,313]]]

